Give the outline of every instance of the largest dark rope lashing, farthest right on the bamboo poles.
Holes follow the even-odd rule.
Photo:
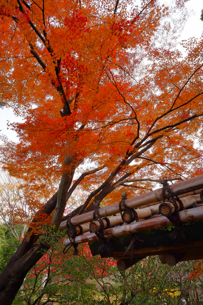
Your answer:
[[[167,191],[170,195],[171,202],[173,203],[174,208],[175,208],[175,211],[173,214],[166,216],[175,225],[175,230],[171,234],[169,234],[169,236],[172,239],[177,239],[177,240],[183,239],[183,238],[185,238],[185,235],[183,234],[184,226],[181,223],[179,215],[178,215],[178,211],[184,210],[183,203],[180,200],[180,198],[178,198],[178,196],[176,196],[176,198],[175,198],[172,190],[169,187],[167,179],[164,179],[163,181],[161,181],[161,184],[163,185],[163,188],[162,188],[163,202],[165,201],[165,191]],[[176,201],[180,204],[179,209],[178,209],[178,205],[177,205]]]

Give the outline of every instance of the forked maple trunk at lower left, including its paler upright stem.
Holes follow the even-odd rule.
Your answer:
[[[71,154],[66,156],[64,159],[64,166],[71,164],[72,160],[73,156]],[[73,180],[74,170],[75,167],[72,169],[71,173],[67,173],[66,170],[63,172],[59,190],[45,206],[36,213],[32,224],[41,218],[41,213],[50,215],[53,210],[55,210],[51,224],[55,225],[57,228],[59,227],[66,207],[66,195]],[[44,244],[36,244],[38,238],[39,235],[33,234],[32,226],[30,226],[20,247],[9,259],[8,264],[0,275],[0,300],[2,305],[10,305],[12,303],[16,293],[23,284],[27,272],[43,256],[43,250],[49,249],[49,247]]]

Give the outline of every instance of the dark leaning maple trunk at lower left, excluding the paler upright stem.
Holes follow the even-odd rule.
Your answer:
[[[37,221],[37,215],[40,213],[53,212],[57,203],[58,192],[45,204],[45,206],[36,214],[33,222]],[[35,244],[38,236],[32,234],[29,228],[20,247],[9,259],[4,271],[0,275],[0,300],[1,305],[10,305],[14,300],[16,293],[23,284],[27,272],[43,256],[41,249],[48,249],[44,244]]]

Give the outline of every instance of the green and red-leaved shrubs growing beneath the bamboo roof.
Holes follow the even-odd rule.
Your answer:
[[[78,246],[77,257],[73,257],[73,247],[62,254],[66,231],[54,227],[43,230],[40,242],[48,243],[51,250],[27,275],[13,305],[33,304],[36,300],[38,305],[46,300],[63,305],[120,305],[123,301],[126,305],[177,305],[191,289],[203,288],[201,261],[170,267],[154,256],[119,272],[115,260],[93,257],[86,244]],[[1,232],[3,240],[5,231]]]

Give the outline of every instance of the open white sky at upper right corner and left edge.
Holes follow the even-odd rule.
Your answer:
[[[167,1],[161,0],[162,3],[167,3]],[[188,39],[190,37],[200,38],[203,31],[203,21],[200,20],[201,10],[203,9],[203,0],[190,0],[186,3],[189,9],[194,12],[191,13],[191,17],[188,18],[184,30],[181,34],[181,40]],[[21,122],[20,117],[16,117],[11,109],[0,108],[0,134],[6,135],[10,140],[17,142],[16,132],[8,129],[7,123]]]

